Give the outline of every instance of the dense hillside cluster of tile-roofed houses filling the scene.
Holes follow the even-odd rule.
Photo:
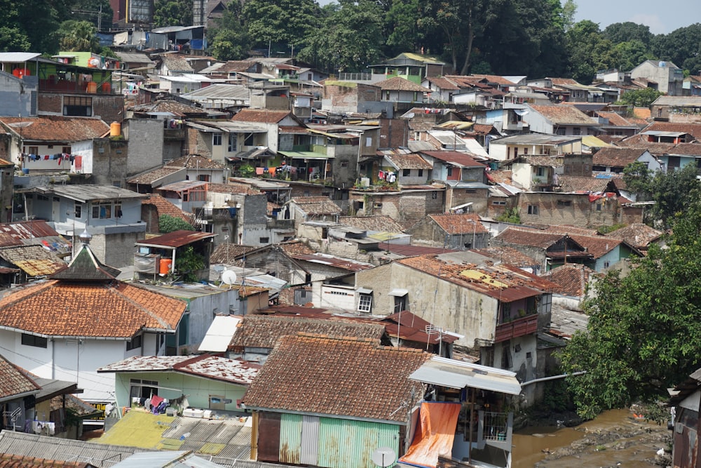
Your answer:
[[[512,411],[564,377],[590,283],[664,239],[623,169],[701,167],[695,77],[456,76],[413,53],[326,76],[163,51],[188,31],[118,62],[0,53],[0,403],[23,433],[0,452],[510,466]],[[646,87],[667,95],[613,104]],[[48,440],[76,421],[114,424],[104,457]]]

